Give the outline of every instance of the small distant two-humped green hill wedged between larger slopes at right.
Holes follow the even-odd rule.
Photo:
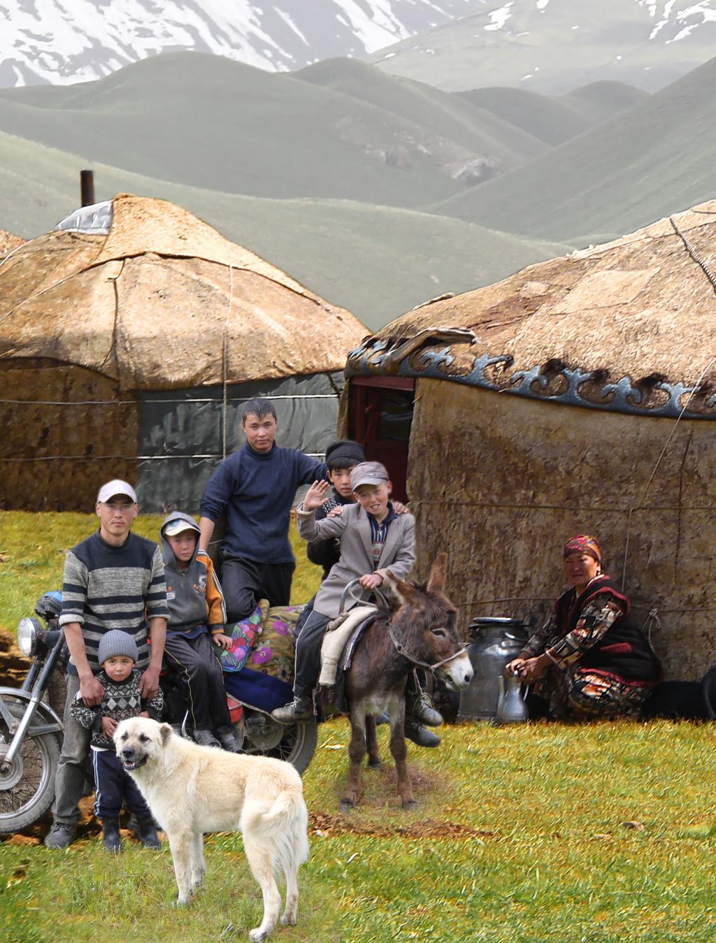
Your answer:
[[[561,97],[497,88],[460,91],[457,97],[500,115],[504,121],[555,147],[624,108],[632,108],[647,97],[647,92],[623,82],[594,82]],[[533,155],[538,156],[539,152]]]

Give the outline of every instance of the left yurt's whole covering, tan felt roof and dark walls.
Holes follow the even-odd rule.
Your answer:
[[[87,509],[121,477],[196,511],[257,395],[321,455],[363,325],[181,207],[100,209],[0,259],[0,506]]]

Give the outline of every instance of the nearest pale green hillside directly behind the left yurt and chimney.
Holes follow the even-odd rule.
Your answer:
[[[78,205],[86,156],[0,133],[0,228],[31,238]],[[267,200],[93,164],[97,200],[130,191],[187,207],[371,328],[443,291],[464,291],[562,255],[472,223],[343,200]]]

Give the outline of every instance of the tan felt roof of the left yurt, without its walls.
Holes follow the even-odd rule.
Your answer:
[[[342,370],[367,333],[163,200],[120,194],[108,232],[54,230],[0,262],[0,361],[50,358],[122,389]]]

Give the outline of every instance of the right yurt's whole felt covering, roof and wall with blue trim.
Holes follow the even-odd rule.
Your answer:
[[[716,663],[713,273],[716,201],[443,296],[351,353],[345,432],[351,384],[414,378],[417,569],[448,552],[463,627],[541,623],[564,541],[590,533],[666,676]]]

